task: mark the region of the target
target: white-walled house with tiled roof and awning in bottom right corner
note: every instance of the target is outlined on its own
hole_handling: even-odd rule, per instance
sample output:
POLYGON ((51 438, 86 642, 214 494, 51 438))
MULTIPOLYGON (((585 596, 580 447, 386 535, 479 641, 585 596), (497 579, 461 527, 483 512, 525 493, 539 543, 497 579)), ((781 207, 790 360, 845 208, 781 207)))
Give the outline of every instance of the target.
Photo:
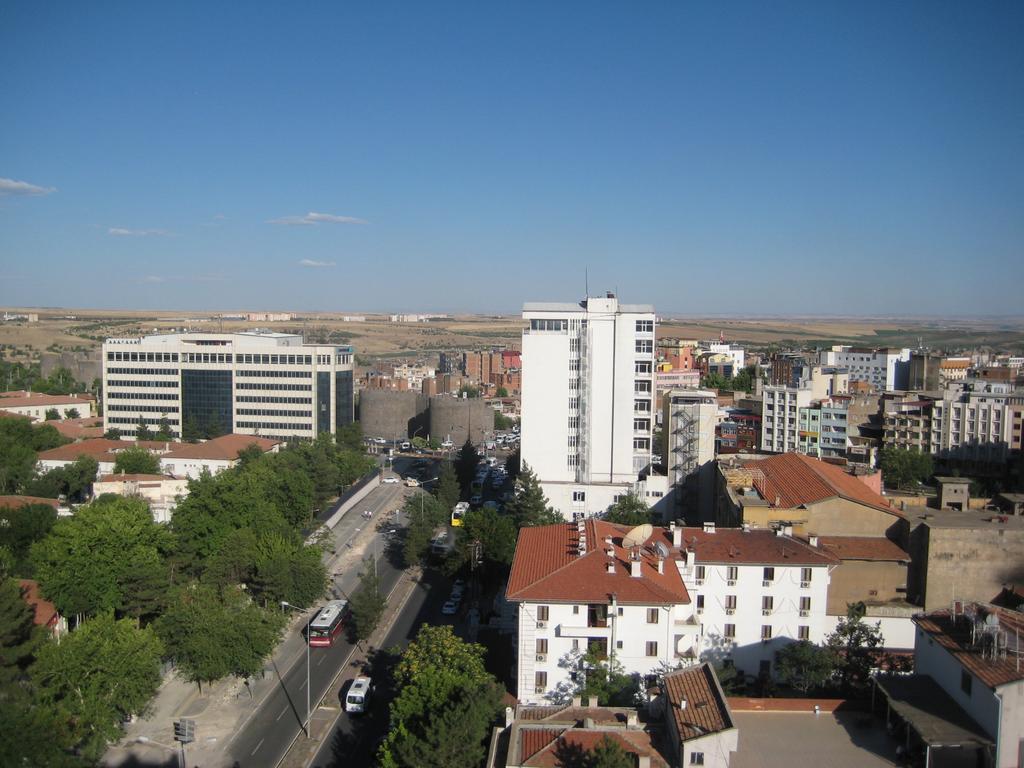
POLYGON ((926 765, 1024 765, 1024 613, 956 601, 914 617, 910 676, 877 679, 895 735, 926 765))

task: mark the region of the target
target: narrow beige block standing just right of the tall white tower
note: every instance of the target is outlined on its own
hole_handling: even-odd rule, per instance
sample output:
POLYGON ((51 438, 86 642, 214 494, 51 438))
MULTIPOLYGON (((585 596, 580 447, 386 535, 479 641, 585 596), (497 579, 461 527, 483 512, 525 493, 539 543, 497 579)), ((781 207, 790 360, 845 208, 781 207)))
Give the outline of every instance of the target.
POLYGON ((718 398, 700 389, 673 389, 662 399, 672 486, 673 519, 710 519, 715 499, 718 398))

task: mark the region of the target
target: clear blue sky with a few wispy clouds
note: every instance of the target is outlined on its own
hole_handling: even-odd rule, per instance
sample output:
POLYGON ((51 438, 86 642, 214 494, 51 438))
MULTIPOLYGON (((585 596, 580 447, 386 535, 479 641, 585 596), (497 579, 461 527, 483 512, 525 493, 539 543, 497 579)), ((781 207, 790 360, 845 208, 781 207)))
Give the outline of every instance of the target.
POLYGON ((0 4, 0 304, 1021 313, 1024 3, 0 4))

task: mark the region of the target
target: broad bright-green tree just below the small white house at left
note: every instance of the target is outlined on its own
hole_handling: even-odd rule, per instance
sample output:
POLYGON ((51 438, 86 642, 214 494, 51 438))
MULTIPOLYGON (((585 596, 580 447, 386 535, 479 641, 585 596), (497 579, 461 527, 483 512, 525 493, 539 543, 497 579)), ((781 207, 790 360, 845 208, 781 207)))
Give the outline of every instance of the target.
POLYGON ((171 543, 144 502, 110 496, 57 520, 31 553, 43 594, 65 615, 124 613, 131 607, 127 593, 138 583, 132 569, 162 571, 171 543))

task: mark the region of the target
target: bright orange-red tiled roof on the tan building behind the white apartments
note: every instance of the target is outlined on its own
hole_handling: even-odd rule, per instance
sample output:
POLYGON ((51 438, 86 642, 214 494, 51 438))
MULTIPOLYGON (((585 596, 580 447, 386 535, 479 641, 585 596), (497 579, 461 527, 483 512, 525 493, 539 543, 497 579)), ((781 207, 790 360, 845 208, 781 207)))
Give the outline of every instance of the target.
POLYGON ((856 477, 803 454, 780 454, 743 466, 760 470, 755 473, 754 486, 762 499, 776 507, 803 507, 838 497, 902 517, 885 497, 856 477))

